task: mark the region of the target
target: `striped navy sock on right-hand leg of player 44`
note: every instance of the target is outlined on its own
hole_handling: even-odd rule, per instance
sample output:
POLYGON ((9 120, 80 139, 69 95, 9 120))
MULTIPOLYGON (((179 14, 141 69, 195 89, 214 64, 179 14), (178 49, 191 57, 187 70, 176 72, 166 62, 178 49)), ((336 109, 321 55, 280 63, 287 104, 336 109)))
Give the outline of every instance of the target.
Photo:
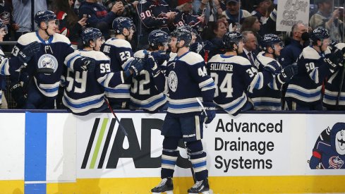
POLYGON ((195 178, 202 181, 208 177, 206 167, 206 152, 202 150, 201 140, 186 143, 190 155, 190 161, 193 165, 195 178))

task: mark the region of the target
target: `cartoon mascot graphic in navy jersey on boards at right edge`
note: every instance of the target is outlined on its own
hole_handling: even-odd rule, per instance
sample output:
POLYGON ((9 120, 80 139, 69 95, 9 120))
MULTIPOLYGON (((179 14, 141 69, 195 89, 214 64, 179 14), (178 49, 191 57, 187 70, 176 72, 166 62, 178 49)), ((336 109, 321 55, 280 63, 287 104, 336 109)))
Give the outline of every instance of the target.
POLYGON ((322 131, 308 163, 310 169, 345 169, 344 161, 345 123, 335 123, 322 131))

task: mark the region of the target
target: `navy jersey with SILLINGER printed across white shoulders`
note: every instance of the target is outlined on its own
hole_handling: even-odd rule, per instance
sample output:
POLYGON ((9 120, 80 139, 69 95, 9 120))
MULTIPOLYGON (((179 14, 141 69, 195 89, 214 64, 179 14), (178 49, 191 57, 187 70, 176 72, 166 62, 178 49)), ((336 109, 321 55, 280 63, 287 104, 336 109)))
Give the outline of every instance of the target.
POLYGON ((265 83, 264 74, 253 68, 243 56, 217 54, 207 63, 214 79, 214 102, 229 114, 236 114, 248 101, 247 91, 260 89, 265 83))

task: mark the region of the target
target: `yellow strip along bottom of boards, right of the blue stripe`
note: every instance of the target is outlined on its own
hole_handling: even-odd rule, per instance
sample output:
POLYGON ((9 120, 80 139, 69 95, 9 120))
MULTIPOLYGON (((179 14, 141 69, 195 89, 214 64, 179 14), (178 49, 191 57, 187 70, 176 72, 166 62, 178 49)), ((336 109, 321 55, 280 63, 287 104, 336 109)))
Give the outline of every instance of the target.
MULTIPOLYGON (((47 193, 145 194, 160 178, 92 178, 76 183, 48 183, 47 193)), ((210 177, 214 194, 345 193, 345 176, 234 176, 210 177)), ((174 178, 174 194, 186 194, 191 177, 174 178)))

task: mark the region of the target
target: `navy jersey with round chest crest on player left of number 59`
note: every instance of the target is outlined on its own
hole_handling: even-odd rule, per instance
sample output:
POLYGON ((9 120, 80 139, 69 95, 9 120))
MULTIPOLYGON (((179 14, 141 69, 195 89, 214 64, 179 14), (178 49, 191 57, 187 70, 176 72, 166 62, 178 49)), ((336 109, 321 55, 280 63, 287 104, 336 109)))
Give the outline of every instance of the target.
MULTIPOLYGON (((18 44, 13 47, 13 56, 17 56, 20 49, 23 49, 23 47, 35 41, 41 44, 40 52, 32 56, 31 60, 28 62, 26 71, 35 83, 37 90, 40 91, 42 95, 56 98, 64 69, 63 63, 69 68, 74 69, 77 66, 75 62, 79 61, 77 59, 80 59, 81 56, 79 52, 71 47, 71 42, 67 37, 55 33, 49 37, 49 40, 44 41, 39 37, 38 32, 30 32, 20 36, 18 44), (54 72, 50 75, 38 73, 41 68, 51 68, 54 72)), ((9 64, 10 68, 8 73, 13 75, 18 73, 16 70, 19 69, 23 63, 19 61, 18 57, 11 57, 9 64)), ((81 64, 78 64, 78 66, 80 65, 81 64)))

